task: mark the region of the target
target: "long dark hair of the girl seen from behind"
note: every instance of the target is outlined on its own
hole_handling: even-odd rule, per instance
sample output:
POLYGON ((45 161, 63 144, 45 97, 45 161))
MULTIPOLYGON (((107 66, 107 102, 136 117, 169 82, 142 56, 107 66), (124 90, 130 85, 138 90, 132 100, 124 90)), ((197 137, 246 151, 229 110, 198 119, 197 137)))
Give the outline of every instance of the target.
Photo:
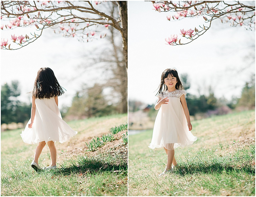
POLYGON ((35 98, 52 98, 60 96, 64 90, 59 85, 53 70, 50 68, 40 68, 34 83, 34 90, 31 91, 35 98))

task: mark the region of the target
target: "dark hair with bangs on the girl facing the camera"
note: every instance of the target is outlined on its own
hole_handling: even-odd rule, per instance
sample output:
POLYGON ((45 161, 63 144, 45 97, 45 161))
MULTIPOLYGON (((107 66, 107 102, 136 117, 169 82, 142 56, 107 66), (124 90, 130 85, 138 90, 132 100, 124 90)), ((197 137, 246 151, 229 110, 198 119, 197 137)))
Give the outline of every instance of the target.
POLYGON ((167 86, 164 84, 164 79, 167 78, 169 75, 171 75, 172 77, 176 77, 176 79, 178 81, 175 85, 175 88, 177 90, 184 90, 184 88, 181 84, 181 80, 180 80, 180 77, 178 75, 178 72, 175 69, 169 69, 168 68, 168 69, 164 70, 164 72, 162 73, 161 82, 160 82, 160 85, 159 85, 159 90, 158 90, 156 95, 159 95, 163 90, 167 90, 167 86))

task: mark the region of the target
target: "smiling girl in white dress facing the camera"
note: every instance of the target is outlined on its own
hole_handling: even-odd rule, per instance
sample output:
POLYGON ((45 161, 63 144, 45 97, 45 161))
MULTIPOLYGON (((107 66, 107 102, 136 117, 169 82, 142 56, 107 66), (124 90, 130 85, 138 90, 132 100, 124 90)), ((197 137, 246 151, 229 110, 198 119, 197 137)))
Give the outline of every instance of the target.
POLYGON ((178 146, 192 145, 197 137, 190 132, 189 111, 185 100, 185 91, 182 90, 181 80, 175 69, 166 69, 161 76, 161 83, 157 93, 158 101, 155 109, 158 110, 152 141, 149 148, 164 148, 167 154, 167 165, 160 174, 172 171, 177 165, 174 149, 178 146))

